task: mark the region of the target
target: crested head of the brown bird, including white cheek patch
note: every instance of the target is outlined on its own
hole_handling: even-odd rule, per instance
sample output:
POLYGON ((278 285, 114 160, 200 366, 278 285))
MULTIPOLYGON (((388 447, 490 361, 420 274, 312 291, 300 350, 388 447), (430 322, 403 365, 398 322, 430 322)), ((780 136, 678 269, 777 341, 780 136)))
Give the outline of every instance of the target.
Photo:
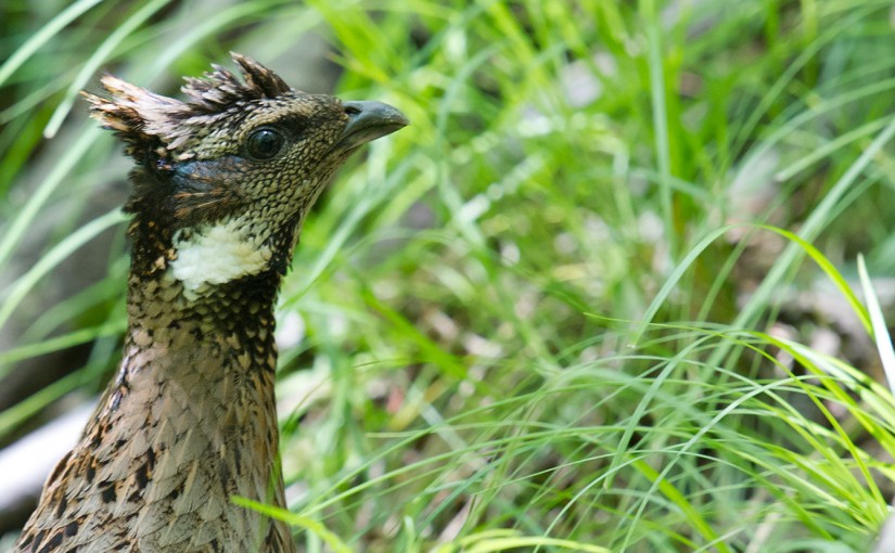
POLYGON ((111 98, 82 93, 137 167, 126 210, 135 267, 168 272, 188 296, 266 271, 282 274, 323 185, 366 142, 408 124, 379 102, 307 94, 233 53, 242 79, 214 65, 186 101, 106 75, 111 98))

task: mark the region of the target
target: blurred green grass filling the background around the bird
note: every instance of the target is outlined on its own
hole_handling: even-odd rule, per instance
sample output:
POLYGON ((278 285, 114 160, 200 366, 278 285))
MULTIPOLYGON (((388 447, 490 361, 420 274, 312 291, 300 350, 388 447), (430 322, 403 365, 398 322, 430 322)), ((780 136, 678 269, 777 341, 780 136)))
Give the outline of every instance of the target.
POLYGON ((4 10, 0 324, 22 330, 0 377, 92 349, 0 413, 0 440, 118 360, 120 240, 105 280, 28 319, 66 259, 123 232, 88 209, 127 164, 77 90, 112 70, 174 92, 228 50, 284 69, 312 33, 340 95, 412 126, 341 172, 282 295, 293 500, 274 514, 307 551, 872 542, 895 490, 892 306, 871 279, 895 269, 890 3, 4 10))

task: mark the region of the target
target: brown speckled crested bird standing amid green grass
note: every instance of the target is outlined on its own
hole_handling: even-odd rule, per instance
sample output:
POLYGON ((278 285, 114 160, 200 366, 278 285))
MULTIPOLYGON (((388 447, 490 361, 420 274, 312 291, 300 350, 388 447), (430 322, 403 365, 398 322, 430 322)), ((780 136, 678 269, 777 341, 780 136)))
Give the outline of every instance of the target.
POLYGON ((397 108, 291 88, 231 52, 184 100, 112 75, 81 92, 133 158, 123 358, 13 552, 297 551, 274 404, 274 304, 303 222, 397 108))

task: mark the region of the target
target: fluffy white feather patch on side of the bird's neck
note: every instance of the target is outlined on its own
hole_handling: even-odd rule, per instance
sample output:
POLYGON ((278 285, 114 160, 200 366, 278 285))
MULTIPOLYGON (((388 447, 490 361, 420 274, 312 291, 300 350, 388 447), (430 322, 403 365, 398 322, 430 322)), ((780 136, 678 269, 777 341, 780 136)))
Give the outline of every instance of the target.
POLYGON ((183 283, 183 295, 194 300, 214 284, 257 274, 267 268, 272 256, 264 244, 263 233, 252 232, 251 224, 241 218, 221 224, 203 224, 174 234, 177 259, 168 272, 183 283))

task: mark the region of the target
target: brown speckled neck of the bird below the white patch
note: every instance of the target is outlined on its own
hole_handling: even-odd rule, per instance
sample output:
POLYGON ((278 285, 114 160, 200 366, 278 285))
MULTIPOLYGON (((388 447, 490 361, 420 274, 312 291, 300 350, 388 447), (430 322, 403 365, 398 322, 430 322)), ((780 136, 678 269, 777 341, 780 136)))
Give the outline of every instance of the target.
POLYGON ((191 301, 144 261, 135 253, 118 374, 38 513, 53 509, 48 525, 76 523, 72 543, 98 551, 116 550, 122 531, 140 551, 294 552, 285 524, 231 501, 285 506, 273 397, 279 274, 191 301))

